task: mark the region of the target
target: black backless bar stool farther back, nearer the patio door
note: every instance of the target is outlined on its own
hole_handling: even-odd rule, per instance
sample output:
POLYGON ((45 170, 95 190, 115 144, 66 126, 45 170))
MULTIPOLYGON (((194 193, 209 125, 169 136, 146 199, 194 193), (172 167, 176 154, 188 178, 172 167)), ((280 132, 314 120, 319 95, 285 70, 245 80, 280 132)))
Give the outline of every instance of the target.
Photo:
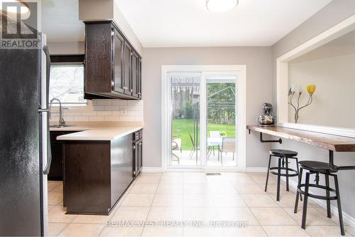
POLYGON ((288 177, 295 177, 298 176, 298 165, 296 165, 297 170, 291 169, 288 167, 288 159, 295 159, 296 164, 298 164, 298 159, 297 159, 297 152, 293 152, 287 149, 271 149, 270 150, 270 157, 268 159, 268 174, 266 176, 266 184, 265 184, 265 191, 268 189, 268 175, 269 172, 271 174, 275 174, 278 176, 278 191, 276 194, 276 200, 280 201, 280 178, 281 177, 286 177, 286 190, 289 191, 290 187, 288 184, 288 177), (270 167, 271 165, 271 158, 272 157, 278 157, 278 167, 270 167), (277 172, 273 172, 274 169, 277 169, 277 172), (283 173, 285 171, 285 173, 283 173))

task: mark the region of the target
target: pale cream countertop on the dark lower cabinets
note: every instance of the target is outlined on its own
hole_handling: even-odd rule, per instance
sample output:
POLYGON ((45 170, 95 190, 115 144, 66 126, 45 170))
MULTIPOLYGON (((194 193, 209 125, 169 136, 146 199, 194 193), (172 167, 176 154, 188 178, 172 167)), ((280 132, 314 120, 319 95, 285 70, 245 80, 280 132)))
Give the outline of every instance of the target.
POLYGON ((50 127, 50 131, 80 131, 58 136, 58 140, 111 141, 124 137, 143 128, 143 123, 79 123, 69 127, 50 127))

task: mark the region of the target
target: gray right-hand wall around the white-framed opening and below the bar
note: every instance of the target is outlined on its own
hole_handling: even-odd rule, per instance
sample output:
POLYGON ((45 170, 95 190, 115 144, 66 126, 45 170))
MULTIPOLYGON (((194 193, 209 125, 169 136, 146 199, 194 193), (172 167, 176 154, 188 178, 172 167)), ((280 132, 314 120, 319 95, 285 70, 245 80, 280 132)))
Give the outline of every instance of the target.
MULTIPOLYGON (((355 14, 354 0, 334 0, 330 4, 320 10, 317 14, 302 23, 300 26, 291 31, 283 39, 275 43, 272 47, 273 54, 273 103, 276 101, 276 58, 284 53, 300 46, 305 41, 326 31, 332 26, 344 21, 355 14)), ((307 144, 291 142, 283 140, 281 146, 284 149, 293 149, 299 152, 299 159, 312 159, 322 162, 328 161, 327 150, 313 147, 307 144)), ((354 153, 335 153, 334 161, 337 165, 355 165, 354 153)), ((338 174, 339 186, 341 189, 343 211, 350 216, 355 217, 354 194, 355 194, 355 171, 342 171, 338 174)))

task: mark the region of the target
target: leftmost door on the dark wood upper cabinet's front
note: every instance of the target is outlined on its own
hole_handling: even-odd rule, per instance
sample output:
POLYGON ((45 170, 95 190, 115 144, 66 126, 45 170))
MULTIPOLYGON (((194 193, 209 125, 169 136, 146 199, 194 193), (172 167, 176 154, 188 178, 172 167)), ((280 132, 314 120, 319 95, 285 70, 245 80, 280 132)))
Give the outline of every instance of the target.
POLYGON ((124 38, 121 36, 119 31, 112 29, 113 38, 113 64, 114 71, 114 86, 112 90, 118 93, 124 93, 124 70, 123 70, 123 55, 124 55, 124 38))

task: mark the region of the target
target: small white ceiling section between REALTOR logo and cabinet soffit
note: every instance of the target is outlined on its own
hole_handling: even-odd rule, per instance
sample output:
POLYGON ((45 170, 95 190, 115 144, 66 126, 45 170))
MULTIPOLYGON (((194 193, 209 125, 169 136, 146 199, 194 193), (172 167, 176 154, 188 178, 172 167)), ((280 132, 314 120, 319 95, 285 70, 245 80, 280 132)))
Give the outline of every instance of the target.
POLYGON ((42 31, 48 41, 84 41, 85 26, 79 21, 78 0, 42 0, 42 31))

